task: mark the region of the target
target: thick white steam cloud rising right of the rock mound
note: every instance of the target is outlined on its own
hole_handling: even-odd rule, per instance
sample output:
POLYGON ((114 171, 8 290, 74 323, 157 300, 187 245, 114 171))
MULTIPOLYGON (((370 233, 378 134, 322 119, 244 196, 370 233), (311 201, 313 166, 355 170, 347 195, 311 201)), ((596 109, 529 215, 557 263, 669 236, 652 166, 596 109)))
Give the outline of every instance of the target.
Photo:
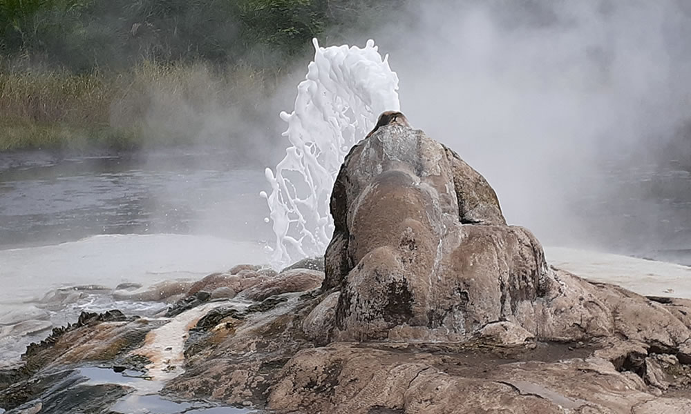
POLYGON ((663 205, 691 201, 688 3, 431 1, 392 13, 360 36, 390 54, 401 110, 489 180, 511 224, 544 244, 691 246, 691 204, 663 205))

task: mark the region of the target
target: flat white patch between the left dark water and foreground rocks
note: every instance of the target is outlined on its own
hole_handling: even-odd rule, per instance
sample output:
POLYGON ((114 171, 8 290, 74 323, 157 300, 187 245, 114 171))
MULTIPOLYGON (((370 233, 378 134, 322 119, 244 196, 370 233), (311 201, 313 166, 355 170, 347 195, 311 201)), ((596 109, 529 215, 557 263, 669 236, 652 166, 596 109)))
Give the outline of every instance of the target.
POLYGON ((0 308, 62 286, 144 285, 200 279, 266 261, 261 246, 209 236, 99 235, 53 246, 0 250, 0 308))

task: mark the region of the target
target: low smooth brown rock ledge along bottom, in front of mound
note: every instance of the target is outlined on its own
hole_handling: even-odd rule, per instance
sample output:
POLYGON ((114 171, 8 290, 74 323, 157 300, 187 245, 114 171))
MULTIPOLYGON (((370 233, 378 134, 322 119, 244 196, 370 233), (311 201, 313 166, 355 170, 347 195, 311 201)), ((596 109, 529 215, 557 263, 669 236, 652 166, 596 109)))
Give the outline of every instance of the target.
MULTIPOLYGON (((283 367, 268 404, 278 413, 630 413, 654 399, 640 377, 599 358, 507 363, 484 355, 473 370, 466 357, 357 344, 307 349, 283 367)), ((683 413, 685 402, 670 402, 670 412, 683 413)))

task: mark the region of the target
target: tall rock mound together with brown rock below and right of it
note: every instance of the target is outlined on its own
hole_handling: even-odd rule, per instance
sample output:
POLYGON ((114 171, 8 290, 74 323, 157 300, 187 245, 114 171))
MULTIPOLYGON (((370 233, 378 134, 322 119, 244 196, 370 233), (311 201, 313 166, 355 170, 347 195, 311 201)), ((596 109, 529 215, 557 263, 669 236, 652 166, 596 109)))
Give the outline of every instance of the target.
POLYGON ((691 400, 651 395, 679 378, 670 371, 691 372, 682 363, 691 344, 688 302, 650 300, 549 268, 536 237, 507 226, 482 175, 421 130, 380 126, 354 146, 331 211, 336 229, 325 256, 325 297, 303 324, 314 342, 330 345, 291 359, 269 397, 272 408, 683 413, 691 407, 691 400), (456 351, 401 353, 430 343, 456 351), (558 351, 563 343, 591 348, 576 357, 573 346, 558 351), (522 355, 536 360, 514 364, 486 348, 508 346, 515 357, 536 344, 551 344, 549 355, 522 355), (484 362, 467 364, 468 353, 484 362), (321 389, 334 393, 314 391, 321 389))

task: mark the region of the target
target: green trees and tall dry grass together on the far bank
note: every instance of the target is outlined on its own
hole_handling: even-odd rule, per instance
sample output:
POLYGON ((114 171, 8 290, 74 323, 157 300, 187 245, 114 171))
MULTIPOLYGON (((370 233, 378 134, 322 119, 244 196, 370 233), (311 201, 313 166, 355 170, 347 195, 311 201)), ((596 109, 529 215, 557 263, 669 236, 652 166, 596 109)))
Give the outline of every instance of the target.
POLYGON ((396 2, 0 0, 0 151, 189 142, 396 2))

